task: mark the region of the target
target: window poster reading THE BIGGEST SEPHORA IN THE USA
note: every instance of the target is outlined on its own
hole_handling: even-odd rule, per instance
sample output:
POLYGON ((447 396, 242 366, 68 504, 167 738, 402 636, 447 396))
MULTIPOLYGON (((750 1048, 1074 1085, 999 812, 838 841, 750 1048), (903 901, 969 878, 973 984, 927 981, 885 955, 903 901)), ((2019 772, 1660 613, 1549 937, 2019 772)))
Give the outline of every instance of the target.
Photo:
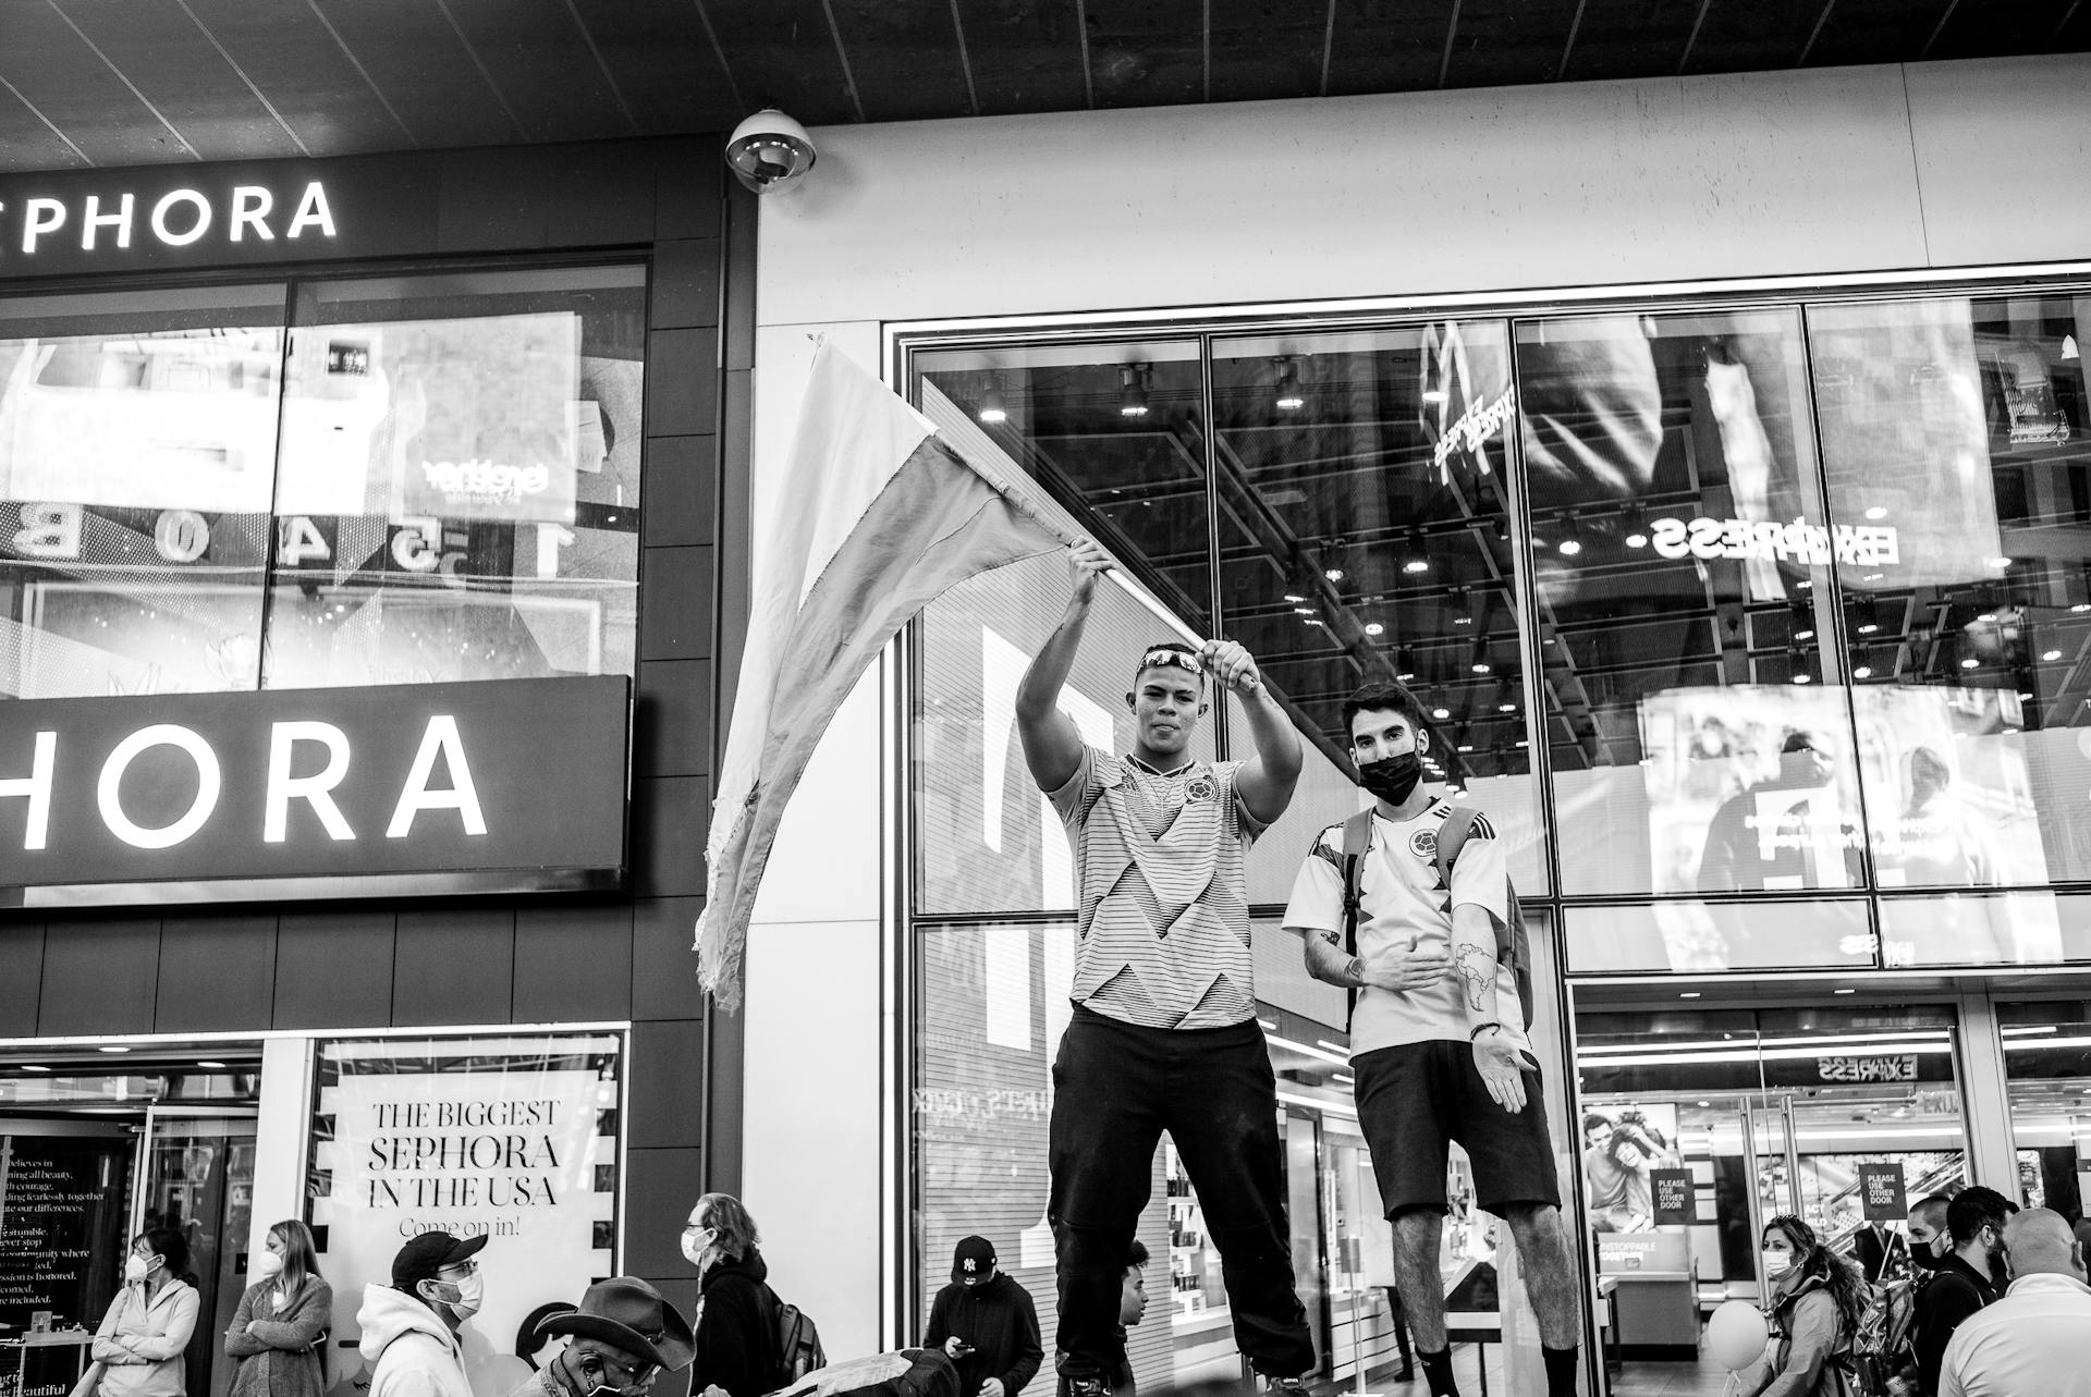
MULTIPOLYGON (((477 1397, 529 1376, 516 1332, 617 1272, 619 1039, 519 1035, 320 1046, 307 1207, 335 1338, 420 1232, 485 1236, 485 1301, 460 1330, 477 1397)), ((355 1382, 353 1347, 330 1384, 355 1382)))

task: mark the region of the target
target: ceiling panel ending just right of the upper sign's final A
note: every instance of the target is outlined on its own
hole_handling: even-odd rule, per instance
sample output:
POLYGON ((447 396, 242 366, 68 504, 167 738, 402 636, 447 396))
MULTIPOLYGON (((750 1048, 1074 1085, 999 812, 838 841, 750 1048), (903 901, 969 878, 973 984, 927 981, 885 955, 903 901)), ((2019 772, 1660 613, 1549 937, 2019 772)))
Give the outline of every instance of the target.
POLYGON ((312 155, 351 155, 408 140, 408 130, 385 111, 305 4, 182 2, 312 155))

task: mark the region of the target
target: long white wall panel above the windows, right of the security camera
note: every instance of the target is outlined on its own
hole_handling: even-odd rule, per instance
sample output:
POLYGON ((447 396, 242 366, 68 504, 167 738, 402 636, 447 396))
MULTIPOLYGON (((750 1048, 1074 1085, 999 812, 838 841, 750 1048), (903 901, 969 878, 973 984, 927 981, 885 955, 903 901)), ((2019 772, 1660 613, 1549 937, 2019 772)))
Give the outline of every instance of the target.
POLYGON ((1897 67, 824 128, 759 314, 991 316, 1905 268, 1897 67))

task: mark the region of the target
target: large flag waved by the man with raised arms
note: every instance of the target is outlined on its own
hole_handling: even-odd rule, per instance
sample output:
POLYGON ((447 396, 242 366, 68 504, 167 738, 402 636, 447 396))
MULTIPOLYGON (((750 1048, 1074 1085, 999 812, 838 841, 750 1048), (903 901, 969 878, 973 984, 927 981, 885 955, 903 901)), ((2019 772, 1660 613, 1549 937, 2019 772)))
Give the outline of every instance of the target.
POLYGON ((780 504, 757 525, 749 644, 711 807, 696 966, 730 1010, 769 845, 843 698, 945 590, 1069 544, 935 433, 832 345, 813 356, 780 504))

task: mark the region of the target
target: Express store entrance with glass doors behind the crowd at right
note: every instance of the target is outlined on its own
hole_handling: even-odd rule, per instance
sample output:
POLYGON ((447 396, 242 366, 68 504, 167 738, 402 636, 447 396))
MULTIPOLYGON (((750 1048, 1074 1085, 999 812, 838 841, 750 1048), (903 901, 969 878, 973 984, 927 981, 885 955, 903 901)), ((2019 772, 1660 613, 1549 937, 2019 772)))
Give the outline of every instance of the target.
POLYGON ((1577 1115, 1583 1226, 1621 1359, 1610 1391, 1721 1393, 1704 1322, 1769 1295, 1773 1217, 1892 1276, 1909 1205, 1966 1175, 1953 1016, 1600 1004, 1579 991, 1577 1115))

